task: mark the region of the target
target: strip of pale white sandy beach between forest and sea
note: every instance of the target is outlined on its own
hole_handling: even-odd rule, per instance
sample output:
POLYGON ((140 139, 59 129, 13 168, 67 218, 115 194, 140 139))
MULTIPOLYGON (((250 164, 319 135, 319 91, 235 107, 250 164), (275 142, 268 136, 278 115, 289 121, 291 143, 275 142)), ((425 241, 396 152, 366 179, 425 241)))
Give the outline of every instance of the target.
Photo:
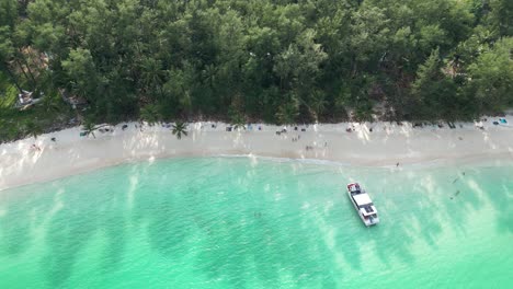
MULTIPOLYGON (((508 117, 506 117, 508 118, 508 117)), ((181 140, 170 128, 136 123, 114 132, 80 137, 80 127, 42 135, 0 146, 0 189, 50 181, 99 167, 132 161, 185 155, 248 154, 293 159, 318 159, 347 165, 399 167, 414 163, 465 160, 513 160, 513 126, 483 122, 412 128, 389 123, 287 126, 255 125, 241 131, 226 131, 226 124, 189 124, 189 136, 181 140), (261 126, 262 130, 259 130, 261 126), (354 131, 345 129, 353 127, 354 131), (306 131, 300 131, 305 128, 306 131), (372 129, 372 131, 371 131, 372 129), (52 141, 52 138, 56 141, 52 141), (293 141, 293 138, 298 138, 293 141), (37 144, 41 150, 31 148, 37 144), (307 150, 307 146, 311 147, 307 150)), ((511 124, 513 119, 509 118, 511 124)))

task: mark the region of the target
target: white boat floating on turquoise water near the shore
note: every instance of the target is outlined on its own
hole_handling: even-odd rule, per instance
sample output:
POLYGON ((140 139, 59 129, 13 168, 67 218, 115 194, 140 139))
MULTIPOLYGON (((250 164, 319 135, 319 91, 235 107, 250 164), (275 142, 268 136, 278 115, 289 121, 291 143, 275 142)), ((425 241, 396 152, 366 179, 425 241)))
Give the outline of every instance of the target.
POLYGON ((369 227, 379 222, 373 200, 358 183, 347 184, 347 195, 365 226, 369 227))

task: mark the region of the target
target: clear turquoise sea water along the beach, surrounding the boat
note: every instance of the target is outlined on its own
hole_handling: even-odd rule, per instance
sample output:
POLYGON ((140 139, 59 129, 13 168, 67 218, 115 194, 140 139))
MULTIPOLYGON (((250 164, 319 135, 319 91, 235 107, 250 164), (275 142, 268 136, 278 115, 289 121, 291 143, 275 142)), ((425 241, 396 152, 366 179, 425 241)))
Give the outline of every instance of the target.
POLYGON ((205 158, 2 190, 0 288, 513 288, 512 176, 205 158))

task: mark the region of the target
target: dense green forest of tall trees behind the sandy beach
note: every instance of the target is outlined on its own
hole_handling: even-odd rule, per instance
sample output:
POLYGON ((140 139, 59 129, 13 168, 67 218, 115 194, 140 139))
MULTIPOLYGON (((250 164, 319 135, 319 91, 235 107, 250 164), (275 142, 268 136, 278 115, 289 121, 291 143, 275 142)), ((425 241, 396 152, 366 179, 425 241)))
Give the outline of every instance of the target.
POLYGON ((513 1, 1 0, 0 71, 94 122, 470 119, 513 106, 513 1))

